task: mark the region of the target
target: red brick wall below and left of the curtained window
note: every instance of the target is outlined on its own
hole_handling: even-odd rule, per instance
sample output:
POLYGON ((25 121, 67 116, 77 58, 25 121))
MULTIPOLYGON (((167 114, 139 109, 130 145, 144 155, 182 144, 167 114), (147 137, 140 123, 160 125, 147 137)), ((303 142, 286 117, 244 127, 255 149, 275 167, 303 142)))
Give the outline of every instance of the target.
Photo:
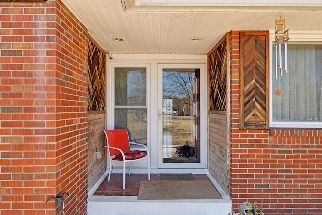
POLYGON ((265 214, 322 214, 322 130, 239 129, 239 31, 230 32, 230 196, 265 214))

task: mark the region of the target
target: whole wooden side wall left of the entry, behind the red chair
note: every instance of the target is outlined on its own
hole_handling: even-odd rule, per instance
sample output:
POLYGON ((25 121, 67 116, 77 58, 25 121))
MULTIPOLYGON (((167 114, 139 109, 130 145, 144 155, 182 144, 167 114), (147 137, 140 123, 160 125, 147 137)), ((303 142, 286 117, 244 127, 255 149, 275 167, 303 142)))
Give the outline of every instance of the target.
POLYGON ((93 38, 88 39, 88 189, 106 169, 106 53, 93 38), (101 153, 97 159, 96 152, 101 153))

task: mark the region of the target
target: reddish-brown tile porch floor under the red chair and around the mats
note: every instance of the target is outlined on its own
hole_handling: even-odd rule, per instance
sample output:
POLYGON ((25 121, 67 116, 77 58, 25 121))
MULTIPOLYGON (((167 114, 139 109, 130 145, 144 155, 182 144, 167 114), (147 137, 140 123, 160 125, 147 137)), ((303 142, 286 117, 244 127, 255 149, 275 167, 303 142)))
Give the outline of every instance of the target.
MULTIPOLYGON (((195 180, 209 180, 207 175, 193 174, 195 180)), ((108 175, 93 195, 101 196, 138 196, 140 182, 147 181, 147 174, 126 174, 126 189, 123 190, 123 174, 112 173, 110 181, 108 175)), ((151 180, 160 180, 160 174, 151 174, 151 180)))

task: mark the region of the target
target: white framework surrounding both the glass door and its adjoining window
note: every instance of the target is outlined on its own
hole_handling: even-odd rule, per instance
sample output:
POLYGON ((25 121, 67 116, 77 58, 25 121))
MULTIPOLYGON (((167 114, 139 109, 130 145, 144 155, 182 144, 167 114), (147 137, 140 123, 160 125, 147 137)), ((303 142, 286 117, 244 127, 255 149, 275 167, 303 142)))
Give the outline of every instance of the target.
MULTIPOLYGON (((205 160, 204 167, 198 169, 174 169, 174 168, 158 168, 158 102, 157 102, 157 88, 158 88, 158 77, 157 77, 157 66, 158 64, 180 64, 180 65, 198 65, 201 73, 202 89, 200 93, 205 97, 201 98, 200 108, 204 108, 204 114, 201 115, 202 124, 201 129, 204 130, 204 136, 207 137, 207 54, 113 54, 113 60, 106 61, 106 129, 114 128, 114 71, 113 67, 140 67, 146 66, 147 69, 147 100, 148 100, 148 148, 151 155, 151 173, 195 173, 195 174, 206 174, 208 172, 208 162, 205 160)), ((161 104, 162 105, 162 104, 161 104)), ((206 140, 205 140, 206 141, 206 140)), ((205 149, 207 150, 207 149, 205 149)), ((205 153, 207 156, 207 153, 205 153)), ((206 157, 204 159, 207 159, 206 157)), ((133 166, 132 173, 145 173, 145 169, 141 168, 146 166, 144 160, 142 163, 136 162, 136 166, 133 166)), ((122 165, 118 163, 113 164, 113 171, 116 173, 122 173, 122 165)))

